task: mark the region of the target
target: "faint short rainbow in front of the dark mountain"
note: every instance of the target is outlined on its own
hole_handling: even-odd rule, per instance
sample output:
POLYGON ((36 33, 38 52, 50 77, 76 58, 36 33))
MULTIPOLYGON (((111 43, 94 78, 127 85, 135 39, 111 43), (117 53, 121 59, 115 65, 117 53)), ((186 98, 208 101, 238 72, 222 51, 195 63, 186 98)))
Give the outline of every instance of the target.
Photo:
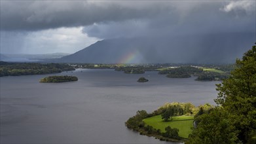
POLYGON ((133 52, 130 52, 126 54, 119 63, 138 63, 141 61, 141 54, 139 54, 138 50, 134 50, 133 52))

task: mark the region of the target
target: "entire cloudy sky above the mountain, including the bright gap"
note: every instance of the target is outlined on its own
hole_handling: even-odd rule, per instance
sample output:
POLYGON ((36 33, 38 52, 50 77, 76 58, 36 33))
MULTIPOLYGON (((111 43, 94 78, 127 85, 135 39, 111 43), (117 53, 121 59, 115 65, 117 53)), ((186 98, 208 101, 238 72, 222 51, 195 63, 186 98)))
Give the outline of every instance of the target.
POLYGON ((74 53, 119 37, 153 37, 158 43, 164 37, 256 31, 254 0, 0 3, 2 54, 74 53))

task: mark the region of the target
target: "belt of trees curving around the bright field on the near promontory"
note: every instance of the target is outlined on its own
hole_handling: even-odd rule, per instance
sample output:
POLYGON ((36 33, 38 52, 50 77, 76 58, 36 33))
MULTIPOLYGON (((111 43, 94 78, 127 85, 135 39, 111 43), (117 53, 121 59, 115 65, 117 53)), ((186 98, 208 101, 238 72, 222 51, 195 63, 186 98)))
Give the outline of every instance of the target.
MULTIPOLYGON (((167 126, 165 128, 165 132, 161 132, 159 129, 153 128, 153 126, 149 126, 143 122, 143 119, 154 117, 156 115, 162 115, 162 119, 167 121, 169 118, 173 116, 180 115, 198 115, 197 113, 201 113, 200 109, 203 111, 209 111, 213 106, 206 103, 205 105, 200 105, 199 107, 195 107, 191 103, 165 103, 160 108, 158 108, 153 113, 148 114, 147 111, 141 110, 137 111, 134 117, 129 118, 125 125, 127 128, 135 130, 142 135, 148 135, 156 137, 163 141, 185 141, 185 138, 179 137, 177 128, 171 128, 167 126)), ((171 118, 172 120, 172 118, 171 118)))

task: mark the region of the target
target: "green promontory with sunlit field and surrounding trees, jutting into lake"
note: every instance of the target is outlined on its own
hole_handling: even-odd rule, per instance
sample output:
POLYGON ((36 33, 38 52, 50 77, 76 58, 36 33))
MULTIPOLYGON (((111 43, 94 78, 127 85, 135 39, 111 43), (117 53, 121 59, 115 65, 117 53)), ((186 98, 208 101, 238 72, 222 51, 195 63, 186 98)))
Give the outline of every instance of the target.
POLYGON ((146 111, 137 111, 137 114, 129 118, 125 124, 127 128, 136 130, 140 134, 153 135, 165 141, 183 141, 183 137, 188 137, 191 133, 194 120, 194 117, 184 114, 191 115, 192 109, 195 107, 191 103, 166 103, 150 114, 147 114, 146 111), (161 114, 166 111, 172 111, 172 121, 162 120, 161 114), (168 126, 172 126, 172 129, 168 129, 166 132, 165 128, 168 126))

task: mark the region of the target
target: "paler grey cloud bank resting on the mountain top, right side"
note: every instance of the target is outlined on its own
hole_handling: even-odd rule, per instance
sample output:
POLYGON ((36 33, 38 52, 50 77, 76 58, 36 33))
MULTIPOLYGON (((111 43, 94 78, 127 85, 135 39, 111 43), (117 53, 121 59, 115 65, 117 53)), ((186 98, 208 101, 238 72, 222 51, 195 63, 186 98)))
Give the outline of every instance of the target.
POLYGON ((227 9, 227 5, 217 2, 202 3, 187 11, 178 7, 152 18, 94 24, 84 27, 83 31, 101 39, 136 36, 162 39, 163 36, 174 35, 255 32, 255 7, 249 5, 247 10, 247 7, 238 6, 227 9), (243 14, 241 10, 244 11, 243 14))

